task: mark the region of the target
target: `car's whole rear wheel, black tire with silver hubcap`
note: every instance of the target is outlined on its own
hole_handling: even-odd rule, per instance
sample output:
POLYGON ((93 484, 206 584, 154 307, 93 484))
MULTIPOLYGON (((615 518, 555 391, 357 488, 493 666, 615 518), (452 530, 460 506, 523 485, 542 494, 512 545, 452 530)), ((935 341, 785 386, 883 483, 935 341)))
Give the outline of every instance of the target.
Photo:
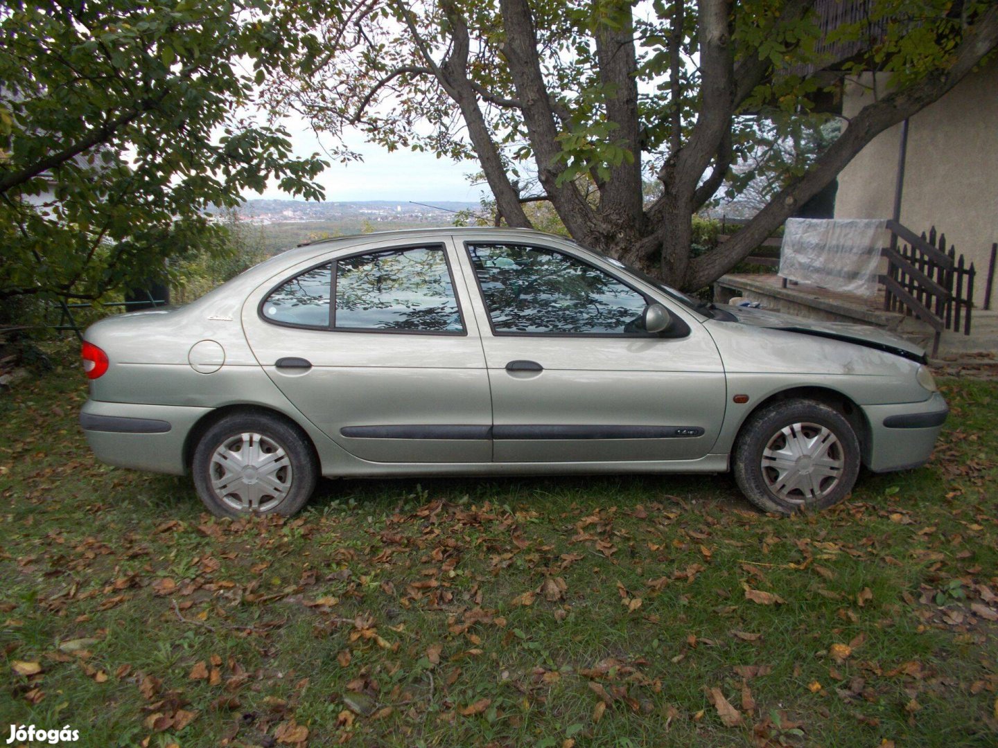
POLYGON ((195 448, 191 470, 208 510, 216 517, 233 518, 289 517, 308 501, 318 477, 307 437, 263 412, 234 413, 209 428, 195 448), (283 454, 270 457, 278 451, 283 454), (260 467, 247 470, 253 464, 260 467))

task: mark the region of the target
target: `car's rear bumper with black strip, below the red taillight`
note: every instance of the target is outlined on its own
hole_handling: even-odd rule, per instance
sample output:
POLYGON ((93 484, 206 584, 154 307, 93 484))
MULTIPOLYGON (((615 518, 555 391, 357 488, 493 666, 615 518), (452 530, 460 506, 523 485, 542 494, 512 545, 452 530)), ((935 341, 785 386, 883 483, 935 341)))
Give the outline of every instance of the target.
POLYGON ((184 475, 188 434, 211 410, 88 400, 80 411, 80 426, 94 456, 103 463, 184 475))

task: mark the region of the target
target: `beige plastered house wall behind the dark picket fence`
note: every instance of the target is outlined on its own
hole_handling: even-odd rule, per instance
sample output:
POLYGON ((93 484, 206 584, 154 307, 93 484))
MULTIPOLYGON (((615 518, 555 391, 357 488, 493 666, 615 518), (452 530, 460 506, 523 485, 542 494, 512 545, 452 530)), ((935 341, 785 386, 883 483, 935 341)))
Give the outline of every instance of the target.
MULTIPOLYGON (((848 82, 842 114, 855 115, 887 93, 886 84, 886 76, 874 80, 871 73, 848 82)), ((881 133, 839 175, 836 218, 891 217, 900 134, 900 125, 881 133)), ((975 288, 984 293, 991 244, 998 241, 998 59, 911 118, 901 222, 945 233, 973 260, 975 288)), ((998 291, 993 296, 992 307, 998 291)))

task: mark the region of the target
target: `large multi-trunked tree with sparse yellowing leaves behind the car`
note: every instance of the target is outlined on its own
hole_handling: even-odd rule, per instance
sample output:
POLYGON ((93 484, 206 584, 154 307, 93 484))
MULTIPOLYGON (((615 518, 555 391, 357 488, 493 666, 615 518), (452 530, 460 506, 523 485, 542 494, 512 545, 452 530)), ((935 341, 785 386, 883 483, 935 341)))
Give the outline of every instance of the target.
POLYGON ((389 150, 476 160, 507 223, 530 225, 524 203, 549 200, 577 240, 688 289, 998 43, 987 0, 288 0, 280 16, 294 49, 268 83, 274 109, 334 137, 358 126, 389 150), (819 152, 772 149, 786 161, 778 189, 731 241, 693 256, 691 216, 726 181, 772 167, 749 162, 759 139, 818 132, 843 77, 868 70, 889 74, 891 93, 819 152))

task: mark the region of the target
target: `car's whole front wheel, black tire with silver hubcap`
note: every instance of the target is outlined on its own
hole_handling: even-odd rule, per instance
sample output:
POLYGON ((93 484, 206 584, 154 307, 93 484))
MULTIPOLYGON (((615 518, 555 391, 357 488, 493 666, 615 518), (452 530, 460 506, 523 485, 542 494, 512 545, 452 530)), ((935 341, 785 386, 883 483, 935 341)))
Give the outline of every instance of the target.
POLYGON ((749 416, 733 459, 735 480, 749 502, 763 512, 790 515, 827 509, 846 497, 859 475, 859 440, 834 408, 784 400, 749 416))

